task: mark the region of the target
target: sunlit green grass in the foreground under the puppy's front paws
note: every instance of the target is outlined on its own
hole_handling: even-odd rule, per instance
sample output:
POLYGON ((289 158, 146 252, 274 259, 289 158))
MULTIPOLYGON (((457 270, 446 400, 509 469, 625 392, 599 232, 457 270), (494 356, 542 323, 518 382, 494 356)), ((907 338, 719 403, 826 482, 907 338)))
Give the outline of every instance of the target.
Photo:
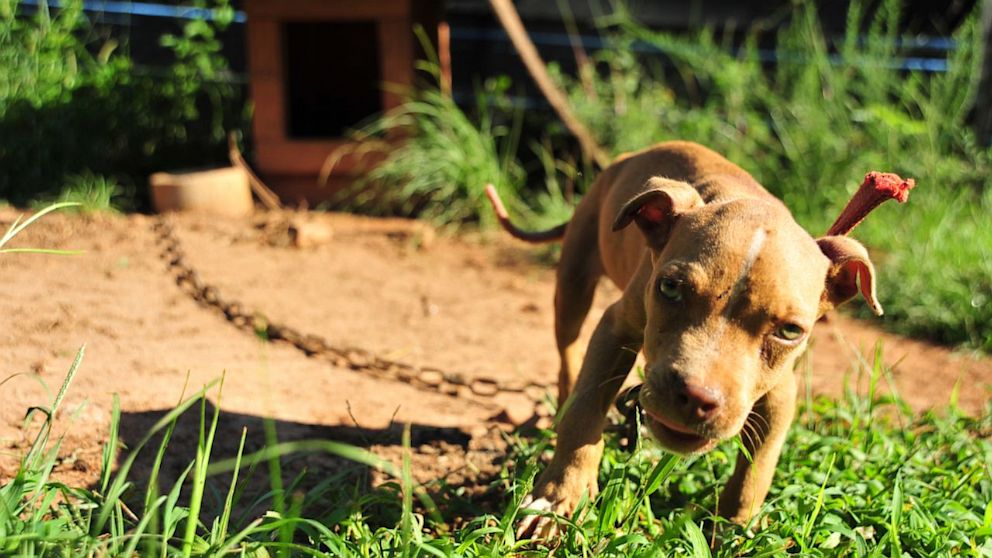
MULTIPOLYGON (((270 440, 245 455, 244 435, 235 457, 216 461, 211 448, 219 411, 206 412, 204 397, 214 389, 207 386, 130 448, 117 445, 115 399, 100 480, 90 488, 66 486, 52 478, 62 440, 50 440, 50 425, 81 359, 82 350, 54 403, 38 409, 46 420, 36 442, 16 476, 0 487, 0 555, 547 553, 515 540, 513 530, 517 505, 548 457, 552 435, 545 431, 509 438, 506 463, 480 501, 442 481, 414 483, 409 432, 407 457, 398 466, 327 440, 270 440), (172 449, 176 420, 197 409, 195 458, 173 486, 159 492, 154 477, 172 449), (155 439, 157 445, 151 443, 155 439), (130 478, 141 452, 154 455, 150 481, 130 478), (322 482, 308 489, 298 477, 285 486, 281 480, 273 483, 262 494, 244 490, 244 478, 256 465, 268 463, 271 469, 288 455, 308 452, 345 457, 356 470, 310 471, 306 474, 322 482), (368 488, 356 480, 359 466, 393 480, 368 488), (229 488, 218 488, 218 480, 229 488), (247 503, 269 511, 232 513, 247 503), (456 516, 467 522, 456 525, 456 516)), ((873 393, 886 374, 878 362, 863 371, 873 393)), ((992 556, 992 408, 969 418, 952 402, 941 413, 917 416, 895 397, 848 394, 841 401, 807 400, 799 417, 768 501, 746 528, 724 524, 711 513, 735 460, 735 443, 683 460, 650 443, 624 453, 608 438, 601 494, 568 521, 556 555, 710 556, 716 526, 721 533, 721 544, 712 551, 716 556, 992 556)))

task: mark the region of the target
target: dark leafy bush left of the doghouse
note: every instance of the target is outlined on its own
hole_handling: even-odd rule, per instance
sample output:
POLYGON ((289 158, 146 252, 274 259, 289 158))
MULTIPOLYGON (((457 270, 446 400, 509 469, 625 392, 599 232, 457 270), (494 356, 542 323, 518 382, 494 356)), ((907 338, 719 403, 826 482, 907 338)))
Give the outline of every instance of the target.
MULTIPOLYGON (((205 2, 200 2, 201 7, 205 2)), ((174 62, 136 66, 114 39, 99 42, 81 0, 44 4, 32 16, 0 1, 0 199, 56 196, 85 172, 121 184, 141 202, 148 174, 226 161, 225 131, 243 122, 216 32, 233 17, 227 0, 212 22, 191 20, 161 43, 174 62)))

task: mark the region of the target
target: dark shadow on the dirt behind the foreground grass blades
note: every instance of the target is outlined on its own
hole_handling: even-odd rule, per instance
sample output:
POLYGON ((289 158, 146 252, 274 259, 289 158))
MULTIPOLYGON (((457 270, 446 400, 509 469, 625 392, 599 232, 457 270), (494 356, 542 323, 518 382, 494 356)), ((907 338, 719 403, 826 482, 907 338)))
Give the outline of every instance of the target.
MULTIPOLYGON (((210 402, 205 404, 203 416, 207 428, 215 410, 216 407, 210 402)), ((119 433, 122 449, 117 460, 118 467, 168 413, 169 410, 122 413, 119 433)), ((200 405, 197 404, 176 421, 159 468, 159 493, 164 494, 171 490, 183 471, 196 459, 201 430, 200 417, 200 405)), ((261 450, 267 445, 267 428, 274 430, 279 442, 333 440, 370 449, 396 465, 400 464, 404 453, 404 425, 401 424, 372 429, 307 424, 221 412, 210 461, 216 463, 236 456, 242 431, 246 434, 244 454, 261 450)), ((409 455, 415 480, 424 484, 442 514, 455 519, 469 504, 476 511, 480 505, 500 505, 505 491, 494 487, 493 482, 502 466, 506 446, 501 443, 502 438, 498 432, 495 436, 473 439, 458 428, 412 424, 410 431, 409 455)), ((135 512, 142 509, 148 479, 151 477, 163 435, 163 432, 157 433, 140 450, 128 474, 134 488, 126 494, 125 501, 135 512)), ((245 524, 262 513, 275 509, 273 487, 278 486, 278 483, 282 484, 288 495, 287 501, 302 498, 304 510, 318 516, 338 514, 352 508, 357 511, 361 507, 365 513, 376 510, 371 515, 384 524, 398 518, 400 496, 397 485, 393 484, 396 479, 385 473, 329 453, 288 455, 279 461, 278 467, 278 475, 273 474, 268 464, 242 468, 233 506, 235 525, 245 524)), ((220 515, 224 509, 231 478, 231 473, 208 477, 201 515, 201 520, 206 524, 209 525, 212 518, 220 515)), ((180 495, 181 504, 188 502, 189 491, 190 479, 187 478, 180 495)))

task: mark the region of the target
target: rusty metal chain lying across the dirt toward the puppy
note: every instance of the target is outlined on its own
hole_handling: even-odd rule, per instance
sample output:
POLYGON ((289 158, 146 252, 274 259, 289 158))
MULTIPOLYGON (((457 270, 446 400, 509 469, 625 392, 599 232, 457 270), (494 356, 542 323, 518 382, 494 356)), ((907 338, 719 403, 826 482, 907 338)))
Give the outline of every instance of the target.
POLYGON ((332 345, 318 335, 305 334, 292 327, 269 320, 265 314, 250 310, 238 301, 221 297, 216 287, 203 281, 187 262, 172 225, 162 216, 152 223, 152 232, 162 249, 161 258, 168 265, 179 288, 201 306, 219 312, 232 325, 269 341, 288 343, 310 358, 320 358, 335 366, 349 368, 370 376, 402 382, 423 391, 458 397, 471 394, 492 398, 500 393, 523 395, 534 403, 535 414, 545 400, 550 384, 533 381, 505 382, 488 376, 470 378, 459 372, 418 367, 382 358, 358 348, 332 345))

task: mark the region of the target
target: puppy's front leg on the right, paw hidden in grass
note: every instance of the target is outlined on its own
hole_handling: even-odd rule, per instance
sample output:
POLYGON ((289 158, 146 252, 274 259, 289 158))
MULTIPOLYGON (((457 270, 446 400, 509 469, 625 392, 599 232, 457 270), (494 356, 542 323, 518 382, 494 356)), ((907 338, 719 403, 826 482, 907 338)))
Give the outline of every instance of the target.
POLYGON ((737 466, 720 494, 720 515, 745 524, 768 495, 775 465, 796 414, 796 377, 789 373, 754 405, 741 439, 751 454, 737 456, 737 466))

